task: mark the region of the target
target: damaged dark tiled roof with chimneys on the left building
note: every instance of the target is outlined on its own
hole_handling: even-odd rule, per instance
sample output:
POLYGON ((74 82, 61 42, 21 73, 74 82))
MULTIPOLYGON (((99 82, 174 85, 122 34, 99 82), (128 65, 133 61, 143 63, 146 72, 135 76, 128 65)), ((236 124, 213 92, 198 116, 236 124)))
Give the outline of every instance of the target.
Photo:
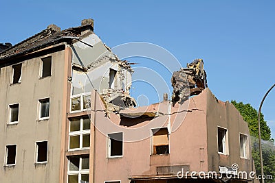
MULTIPOLYGON (((72 27, 61 31, 60 27, 56 25, 49 25, 47 29, 27 38, 18 44, 5 49, 0 53, 0 62, 4 60, 10 60, 16 56, 21 56, 50 45, 56 45, 60 42, 70 42, 72 38, 66 38, 65 36, 81 37, 81 32, 91 29, 94 31, 92 24, 81 25, 79 27, 72 27)), ((83 35, 85 36, 85 35, 83 35)))

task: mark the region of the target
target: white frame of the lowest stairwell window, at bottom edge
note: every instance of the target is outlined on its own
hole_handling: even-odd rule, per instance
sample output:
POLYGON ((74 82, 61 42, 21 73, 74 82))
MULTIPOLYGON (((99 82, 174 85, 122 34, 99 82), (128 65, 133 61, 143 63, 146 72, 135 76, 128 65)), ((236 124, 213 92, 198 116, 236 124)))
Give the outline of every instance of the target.
MULTIPOLYGON (((80 180, 81 180, 81 175, 89 175, 89 169, 82 169, 82 157, 83 156, 89 156, 89 154, 81 154, 81 155, 76 155, 79 157, 79 169, 78 171, 71 171, 69 170, 69 164, 70 164, 70 160, 69 158, 70 157, 73 157, 73 156, 67 156, 67 183, 69 182, 69 175, 78 175, 78 183, 80 183, 80 180)), ((90 157, 89 157, 90 158, 90 157)), ((90 168, 90 165, 89 165, 89 168, 90 168)))

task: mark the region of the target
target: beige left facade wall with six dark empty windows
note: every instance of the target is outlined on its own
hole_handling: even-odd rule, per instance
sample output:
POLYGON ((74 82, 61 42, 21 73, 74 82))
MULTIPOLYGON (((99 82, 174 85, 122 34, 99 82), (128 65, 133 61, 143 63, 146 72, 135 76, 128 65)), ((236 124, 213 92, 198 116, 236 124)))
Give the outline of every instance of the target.
MULTIPOLYGON (((65 51, 22 62, 21 84, 10 85, 12 66, 0 77, 0 182, 58 182, 65 51), (52 56, 52 76, 39 79, 41 58, 52 56), (50 97, 50 119, 39 121, 39 99, 50 97), (20 103, 19 123, 7 125, 8 105, 20 103), (48 141, 46 164, 35 164, 36 141, 48 141), (16 165, 3 167, 5 145, 17 144, 16 165)), ((66 78, 67 80, 67 78, 66 78)))

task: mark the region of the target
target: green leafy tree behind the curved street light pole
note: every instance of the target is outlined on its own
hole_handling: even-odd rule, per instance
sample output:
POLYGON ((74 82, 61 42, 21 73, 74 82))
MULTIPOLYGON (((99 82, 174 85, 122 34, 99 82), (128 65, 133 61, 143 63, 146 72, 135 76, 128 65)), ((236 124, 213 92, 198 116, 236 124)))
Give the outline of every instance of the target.
MULTIPOLYGON (((239 110, 243 120, 248 122, 250 135, 252 136, 252 158, 256 167, 256 173, 261 174, 261 162, 259 156, 259 142, 258 142, 258 112, 250 103, 231 101, 237 110, 239 110)), ((272 175, 272 180, 265 180, 265 182, 275 182, 275 145, 274 139, 271 138, 271 130, 267 122, 263 119, 263 114, 260 115, 261 122, 261 138, 263 149, 263 169, 265 175, 272 175)))

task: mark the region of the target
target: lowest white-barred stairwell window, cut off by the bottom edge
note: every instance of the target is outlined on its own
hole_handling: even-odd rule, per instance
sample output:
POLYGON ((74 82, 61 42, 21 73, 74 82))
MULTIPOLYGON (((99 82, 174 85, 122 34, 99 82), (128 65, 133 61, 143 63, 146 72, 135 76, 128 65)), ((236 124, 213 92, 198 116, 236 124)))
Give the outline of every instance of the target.
POLYGON ((89 154, 68 157, 68 183, 89 182, 89 154))

